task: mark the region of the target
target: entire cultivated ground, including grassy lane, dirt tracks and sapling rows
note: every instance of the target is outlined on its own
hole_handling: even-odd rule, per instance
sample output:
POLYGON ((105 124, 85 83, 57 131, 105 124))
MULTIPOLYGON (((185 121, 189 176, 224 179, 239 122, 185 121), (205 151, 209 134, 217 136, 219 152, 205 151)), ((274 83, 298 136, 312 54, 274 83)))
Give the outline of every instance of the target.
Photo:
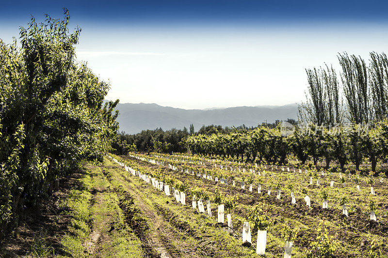
POLYGON ((18 237, 7 249, 27 257, 260 257, 256 252, 258 231, 252 221, 252 245, 242 246, 243 223, 249 221, 250 208, 259 204, 262 213, 272 220, 267 228, 265 257, 283 257, 285 224, 298 229, 292 239, 292 257, 306 257, 309 251, 315 250, 311 243, 320 241, 317 236, 322 226, 327 230, 326 244, 330 247, 338 243, 333 257, 370 257, 372 240, 378 244, 380 257, 388 257, 386 179, 380 182, 376 178, 372 196, 363 176, 360 176, 358 191, 349 175, 343 175, 346 177, 346 187, 343 187, 339 173, 333 173, 335 182, 330 187, 329 175, 320 173, 319 185, 315 178, 309 184, 309 171, 293 172, 293 167, 289 168, 290 172, 287 167, 283 171, 282 167, 272 170, 270 166, 255 167, 255 172, 246 168, 243 172, 242 167, 249 167, 244 164, 240 165, 239 172, 238 163, 223 162, 221 169, 220 161, 186 155, 109 156, 102 164, 85 164, 80 173, 65 179, 66 189, 55 195, 59 200, 58 216, 43 212, 42 217, 46 219, 35 225, 36 228, 34 225, 20 227, 18 237), (195 175, 187 171, 195 171, 195 175), (165 182, 174 179, 177 187, 185 182, 186 205, 173 197, 171 186, 171 195, 166 196, 164 190, 139 178, 139 172, 154 178, 163 175, 165 182), (247 182, 242 189, 242 178, 248 181, 247 175, 254 173, 252 192, 247 182), (208 175, 212 175, 212 180, 207 179, 208 175), (215 176, 221 175, 225 178, 233 175, 235 186, 230 180, 227 184, 215 182, 215 176), (261 193, 257 182, 261 183, 261 193), (280 182, 280 199, 276 197, 274 182, 280 182), (269 185, 273 188, 270 195, 269 185), (290 185, 295 204, 291 204, 290 185), (302 188, 307 189, 311 207, 306 206, 302 188), (322 209, 322 189, 327 190, 328 209, 322 209), (199 196, 199 190, 202 196, 209 196, 211 217, 206 201, 205 213, 198 211, 198 205, 193 209, 193 193, 199 196), (221 194, 221 202, 235 197, 235 207, 230 210, 232 234, 228 232, 226 216, 224 223, 217 223, 216 190, 221 194), (340 198, 343 196, 348 198, 348 217, 342 214, 340 198), (377 221, 370 220, 370 199, 375 202, 377 221))

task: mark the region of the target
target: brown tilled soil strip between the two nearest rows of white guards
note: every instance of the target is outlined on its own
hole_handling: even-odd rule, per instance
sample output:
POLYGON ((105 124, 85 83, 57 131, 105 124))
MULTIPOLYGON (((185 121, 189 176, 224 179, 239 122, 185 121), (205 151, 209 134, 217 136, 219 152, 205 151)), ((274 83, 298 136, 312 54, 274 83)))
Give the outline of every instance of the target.
MULTIPOLYGON (((123 157, 141 164, 142 167, 163 167, 146 161, 137 160, 129 156, 123 157)), ((370 221, 369 215, 361 212, 361 210, 349 212, 349 217, 344 217, 341 210, 330 207, 329 209, 322 209, 322 204, 314 201, 311 201, 311 208, 308 208, 305 205, 303 198, 297 198, 296 204, 291 205, 291 197, 288 196, 288 194, 284 195, 284 192, 281 193, 281 200, 278 200, 274 194, 268 196, 266 189, 262 189, 262 193, 258 194, 255 192, 249 192, 246 189, 241 189, 240 187, 233 187, 231 184, 225 185, 204 179, 203 177, 194 177, 193 175, 172 170, 168 167, 163 168, 168 175, 174 176, 174 178, 181 182, 187 182, 189 187, 193 187, 195 185, 202 189, 206 189, 206 192, 210 194, 214 193, 214 191, 218 189, 225 195, 237 196, 237 201, 244 205, 253 206, 259 203, 265 203, 266 207, 268 207, 267 212, 275 218, 275 221, 281 222, 284 218, 298 221, 298 223, 301 223, 306 226, 306 228, 309 228, 307 230, 302 228, 299 232, 299 236, 303 237, 299 237, 295 241, 295 245, 301 247, 308 247, 309 243, 316 239, 316 228, 319 226, 322 219, 331 222, 331 231, 333 233, 335 232, 336 237, 340 242, 346 243, 347 246, 350 244, 351 247, 353 247, 353 250, 349 250, 349 252, 345 251, 343 253, 338 253, 337 257, 356 257, 355 254, 368 256, 369 249, 364 245, 365 241, 368 242, 368 239, 365 239, 367 234, 383 237, 387 240, 386 243, 388 242, 388 225, 386 223, 387 215, 382 215, 381 217, 383 218, 383 221, 378 220, 378 222, 370 221), (362 248, 359 248, 360 246, 362 246, 362 248)), ((238 183, 239 182, 236 182, 236 185, 238 185, 238 183)), ((386 183, 377 182, 376 188, 377 187, 379 187, 379 189, 384 189, 386 187, 386 183)), ((384 193, 384 195, 386 195, 386 193, 384 193)), ((191 200, 191 196, 186 195, 186 199, 191 200)), ((238 209, 235 212, 237 214, 244 215, 243 212, 238 209)), ((382 243, 382 252, 385 254, 388 253, 388 246, 386 243, 382 243)))

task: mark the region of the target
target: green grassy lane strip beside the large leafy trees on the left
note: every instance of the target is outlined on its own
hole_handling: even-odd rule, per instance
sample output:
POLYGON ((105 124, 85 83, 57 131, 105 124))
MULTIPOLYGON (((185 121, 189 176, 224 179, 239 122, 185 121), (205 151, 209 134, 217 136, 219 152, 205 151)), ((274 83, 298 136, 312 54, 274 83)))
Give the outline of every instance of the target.
MULTIPOLYGON (((84 169, 80 186, 72 189, 61 203, 63 216, 70 216, 67 232, 60 243, 71 257, 144 257, 142 243, 124 221, 119 197, 100 167, 84 169), (111 227, 114 228, 109 232, 111 227), (90 241, 98 232, 97 243, 90 241), (92 242, 94 250, 88 247, 92 242)), ((92 248, 93 249, 93 248, 92 248)))

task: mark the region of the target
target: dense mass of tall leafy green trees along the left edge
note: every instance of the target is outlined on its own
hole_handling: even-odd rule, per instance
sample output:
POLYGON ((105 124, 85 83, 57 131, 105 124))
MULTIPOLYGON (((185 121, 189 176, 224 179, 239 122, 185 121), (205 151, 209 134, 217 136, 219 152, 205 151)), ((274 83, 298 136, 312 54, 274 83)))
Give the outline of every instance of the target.
POLYGON ((118 100, 104 104, 109 85, 76 62, 81 29, 69 33, 64 16, 32 17, 19 47, 0 41, 1 238, 82 159, 102 161, 118 129, 118 100))

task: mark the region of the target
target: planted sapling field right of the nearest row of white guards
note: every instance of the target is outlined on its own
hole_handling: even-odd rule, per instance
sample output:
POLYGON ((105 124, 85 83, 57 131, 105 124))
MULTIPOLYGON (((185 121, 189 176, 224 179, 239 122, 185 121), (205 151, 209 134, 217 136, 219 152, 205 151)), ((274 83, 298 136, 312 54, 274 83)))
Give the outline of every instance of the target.
MULTIPOLYGON (((142 156, 142 159, 146 159, 146 156, 142 156)), ((382 257, 387 257, 388 249, 386 246, 388 240, 388 195, 387 195, 387 181, 381 179, 380 181, 375 182, 374 192, 375 195, 371 195, 371 187, 366 183, 366 178, 360 176, 360 191, 356 188, 356 183, 349 180, 349 177, 354 177, 351 175, 343 175, 346 177, 346 187, 343 187, 343 183, 340 181, 339 173, 333 173, 332 180, 334 181, 333 187, 330 187, 329 175, 325 174, 319 176, 319 185, 316 184, 314 179, 313 184, 309 184, 310 177, 308 176, 307 171, 299 172, 299 169, 296 169, 296 172, 287 172, 287 168, 282 171, 282 168, 277 167, 272 171, 269 168, 267 170, 266 176, 263 176, 262 171, 264 169, 256 169, 256 171, 261 170, 262 179, 262 193, 258 193, 257 184, 253 187, 253 191, 249 191, 248 185, 245 189, 241 189, 241 179, 246 177, 247 172, 243 173, 230 170, 227 174, 234 174, 235 176, 235 187, 231 185, 229 181, 228 184, 222 184, 219 182, 214 182, 213 180, 204 179, 203 176, 194 176, 182 171, 182 167, 189 167, 188 170, 195 170, 201 173, 200 171, 206 171, 208 174, 212 174, 215 171, 215 174, 220 175, 220 170, 214 167, 214 164, 217 164, 217 161, 213 162, 209 159, 194 159, 188 156, 175 157, 174 160, 172 157, 162 158, 159 157, 148 157, 154 161, 159 161, 156 163, 164 162, 165 166, 159 166, 156 164, 151 164, 147 161, 142 161, 135 159, 130 156, 123 156, 120 158, 129 167, 138 167, 140 171, 142 169, 147 169, 151 171, 157 171, 162 169, 163 173, 166 176, 170 176, 176 179, 179 182, 187 182, 188 188, 193 189, 195 187, 202 189, 211 197, 213 196, 215 190, 219 190, 225 196, 234 196, 237 198, 237 207, 231 212, 232 215, 232 224, 235 230, 235 241, 230 241, 231 243, 239 243, 241 245, 241 234, 242 234, 242 224, 247 221, 248 214, 246 214, 247 206, 254 206, 260 203, 264 204, 263 211, 268 212, 270 218, 274 220, 272 227, 268 229, 267 235, 267 250, 266 256, 268 257, 279 257, 284 252, 284 240, 281 237, 281 232, 283 230, 284 224, 287 223, 291 228, 299 228, 298 235, 294 241, 294 247, 292 249, 293 257, 304 257, 306 254, 305 248, 307 250, 310 248, 310 243, 314 242, 317 238, 318 229, 321 228, 321 225, 325 225, 327 228, 332 243, 338 242, 338 250, 335 252, 335 257, 368 257, 371 250, 371 241, 377 240, 381 244, 380 249, 382 257), (188 163, 188 160, 192 163, 188 163), (202 163, 202 165, 198 165, 202 163), (168 168, 168 163, 175 164, 178 167, 177 170, 168 168), (194 164, 195 163, 195 164, 194 164), (178 165, 179 164, 179 165, 178 165), (207 170, 202 170, 206 168, 207 170), (218 170, 218 171, 217 171, 218 170), (270 181, 280 182, 280 199, 276 197, 276 191, 273 191, 271 195, 268 195, 267 186, 270 185, 270 181), (287 190, 286 186, 293 186, 293 191, 296 198, 296 203, 291 204, 291 194, 287 190), (266 185, 266 186, 265 186, 266 185), (308 191, 308 195, 311 199, 311 208, 306 206, 304 196, 301 194, 301 188, 305 187, 308 191), (327 201, 328 209, 322 209, 322 197, 320 196, 321 189, 327 190, 327 201), (342 197, 347 197, 348 201, 346 203, 349 216, 346 217, 342 215, 342 205, 340 205, 340 199, 342 197), (377 222, 370 220, 370 207, 369 200, 373 199, 376 205, 376 214, 377 222)), ((219 164, 219 162, 218 162, 219 164)), ((238 164, 231 164, 232 167, 237 167, 238 164), (234 166, 233 166, 234 165, 234 166)), ((218 165, 220 167, 220 165, 218 165)), ((185 168, 187 169, 187 168, 185 168)), ((242 169, 241 169, 242 170, 242 169)), ((291 171, 290 170, 290 171, 291 171)), ((151 172, 152 173, 152 172, 151 172)), ((190 191, 187 191, 190 192, 190 191)), ((162 196, 163 193, 160 193, 162 196)), ((192 196, 186 194, 186 200, 191 200, 192 196)), ((174 203, 174 201, 171 201, 174 203)), ((191 203, 191 202, 190 202, 191 203)), ((189 204, 190 204, 189 203, 189 204)), ((179 204, 176 204, 180 206, 179 204)), ((189 211, 194 214, 197 213, 197 210, 193 210, 191 205, 189 205, 189 211)), ((217 205, 211 203, 212 214, 217 214, 217 205)), ((184 214, 184 213, 182 213, 184 214)), ((187 216, 183 217, 184 220, 187 220, 187 216)), ((204 216, 204 215, 202 215, 204 216)), ((190 220, 195 220, 195 216, 190 220)), ((211 221, 211 219, 210 219, 211 221)), ((216 222, 216 219, 212 220, 213 223, 216 222)), ((195 223, 194 223, 195 224, 195 223)), ((196 223, 197 224, 197 223, 196 223)), ((199 225, 199 224, 198 224, 199 225)), ((223 225, 214 224, 217 227, 223 228, 223 231, 226 231, 227 224, 223 225)), ((201 228, 200 226, 198 226, 201 228)), ((212 230, 205 230, 207 233, 210 233, 212 230)), ((256 231, 257 232, 257 231, 256 231)), ((256 243, 255 232, 252 232, 252 243, 256 243)), ((255 253, 256 245, 253 244, 250 248, 245 248, 245 251, 251 251, 252 254, 255 253)), ((236 253, 230 253, 230 250, 227 248, 224 250, 224 254, 220 256, 233 256, 238 255, 238 249, 233 251, 236 253)), ((204 252, 211 256, 209 250, 204 250, 204 252)), ((252 255, 250 254, 250 255, 252 255)), ((238 255, 240 256, 240 255, 238 255)))

